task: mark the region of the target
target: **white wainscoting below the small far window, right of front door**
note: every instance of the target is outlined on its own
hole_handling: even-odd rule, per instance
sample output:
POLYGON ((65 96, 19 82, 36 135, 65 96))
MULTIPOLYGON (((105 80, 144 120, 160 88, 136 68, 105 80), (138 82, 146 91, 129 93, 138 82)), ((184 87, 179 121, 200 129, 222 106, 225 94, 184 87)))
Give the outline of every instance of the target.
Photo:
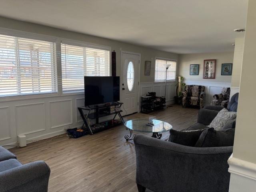
MULTIPOLYGON (((167 82, 166 85, 166 105, 174 104, 176 96, 176 81, 167 82)), ((140 83, 140 95, 148 92, 156 92, 156 96, 164 96, 165 82, 146 82, 140 83)))

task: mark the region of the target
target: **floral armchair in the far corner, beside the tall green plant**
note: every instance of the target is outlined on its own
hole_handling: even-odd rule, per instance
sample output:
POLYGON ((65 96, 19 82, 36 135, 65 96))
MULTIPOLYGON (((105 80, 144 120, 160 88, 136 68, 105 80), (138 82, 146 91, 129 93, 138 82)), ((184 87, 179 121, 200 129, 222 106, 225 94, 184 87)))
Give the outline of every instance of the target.
POLYGON ((182 107, 204 105, 204 86, 201 85, 186 85, 182 92, 182 107))

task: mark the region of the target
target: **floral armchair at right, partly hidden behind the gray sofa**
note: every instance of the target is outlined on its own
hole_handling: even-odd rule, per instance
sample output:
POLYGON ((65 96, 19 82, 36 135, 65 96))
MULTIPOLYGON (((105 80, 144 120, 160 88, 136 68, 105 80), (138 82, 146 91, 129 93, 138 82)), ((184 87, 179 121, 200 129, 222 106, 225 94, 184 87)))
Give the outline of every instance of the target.
POLYGON ((227 107, 230 97, 230 87, 222 88, 222 92, 220 94, 215 94, 213 96, 213 100, 211 105, 220 105, 222 107, 227 107))

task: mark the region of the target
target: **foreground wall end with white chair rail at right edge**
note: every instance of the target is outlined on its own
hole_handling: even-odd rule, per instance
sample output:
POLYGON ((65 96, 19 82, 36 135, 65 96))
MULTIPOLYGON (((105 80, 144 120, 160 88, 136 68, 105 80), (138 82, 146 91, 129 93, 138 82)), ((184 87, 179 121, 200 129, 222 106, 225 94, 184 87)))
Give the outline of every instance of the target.
POLYGON ((256 102, 253 88, 256 71, 256 1, 249 0, 244 54, 240 81, 240 94, 236 119, 233 156, 230 165, 230 192, 255 192, 256 190, 256 102))

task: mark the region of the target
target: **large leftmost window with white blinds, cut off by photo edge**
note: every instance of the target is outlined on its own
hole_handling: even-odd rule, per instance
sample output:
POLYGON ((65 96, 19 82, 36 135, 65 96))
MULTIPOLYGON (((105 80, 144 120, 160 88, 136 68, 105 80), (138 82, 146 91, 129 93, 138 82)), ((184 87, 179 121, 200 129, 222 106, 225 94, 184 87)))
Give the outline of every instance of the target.
POLYGON ((0 35, 0 96, 58 92, 55 46, 0 35))

